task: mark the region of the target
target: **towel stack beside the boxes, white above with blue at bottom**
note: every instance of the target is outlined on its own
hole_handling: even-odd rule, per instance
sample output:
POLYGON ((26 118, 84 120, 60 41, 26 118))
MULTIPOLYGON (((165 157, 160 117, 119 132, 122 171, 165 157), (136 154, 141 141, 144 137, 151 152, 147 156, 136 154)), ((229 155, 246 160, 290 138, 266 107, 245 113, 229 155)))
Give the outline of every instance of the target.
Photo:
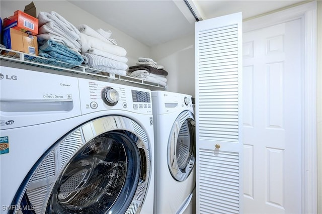
POLYGON ((71 65, 83 63, 84 59, 79 53, 79 31, 72 24, 56 12, 39 12, 38 23, 39 56, 71 65))

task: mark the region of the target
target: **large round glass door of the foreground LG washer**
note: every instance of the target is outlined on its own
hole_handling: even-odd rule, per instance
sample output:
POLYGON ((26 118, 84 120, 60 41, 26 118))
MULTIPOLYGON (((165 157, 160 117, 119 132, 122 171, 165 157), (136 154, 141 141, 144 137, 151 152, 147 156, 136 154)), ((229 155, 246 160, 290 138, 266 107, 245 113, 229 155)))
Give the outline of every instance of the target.
POLYGON ((13 204, 32 213, 138 213, 151 171, 147 139, 131 119, 92 120, 39 159, 13 204))

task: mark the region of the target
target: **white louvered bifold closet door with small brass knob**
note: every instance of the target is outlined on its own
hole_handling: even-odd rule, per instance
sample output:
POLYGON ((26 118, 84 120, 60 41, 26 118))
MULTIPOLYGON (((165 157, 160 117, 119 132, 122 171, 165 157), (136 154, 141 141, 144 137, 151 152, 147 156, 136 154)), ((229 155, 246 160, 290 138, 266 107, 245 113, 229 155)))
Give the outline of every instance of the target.
POLYGON ((241 13, 196 23, 197 213, 243 211, 241 13))

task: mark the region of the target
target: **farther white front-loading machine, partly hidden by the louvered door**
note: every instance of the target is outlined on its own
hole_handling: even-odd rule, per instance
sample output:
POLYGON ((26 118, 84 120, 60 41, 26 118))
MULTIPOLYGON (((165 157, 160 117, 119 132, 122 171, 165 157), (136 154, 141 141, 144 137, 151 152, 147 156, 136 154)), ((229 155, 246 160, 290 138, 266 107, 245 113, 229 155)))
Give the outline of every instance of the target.
POLYGON ((151 91, 154 119, 154 213, 183 213, 195 188, 195 119, 191 96, 151 91))

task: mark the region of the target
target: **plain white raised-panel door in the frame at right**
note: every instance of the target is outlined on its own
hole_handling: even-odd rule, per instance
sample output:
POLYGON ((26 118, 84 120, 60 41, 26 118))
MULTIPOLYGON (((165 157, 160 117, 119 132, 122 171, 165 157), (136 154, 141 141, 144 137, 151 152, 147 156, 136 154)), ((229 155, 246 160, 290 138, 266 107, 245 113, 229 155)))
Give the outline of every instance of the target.
POLYGON ((243 43, 244 213, 301 213, 301 20, 243 43))

